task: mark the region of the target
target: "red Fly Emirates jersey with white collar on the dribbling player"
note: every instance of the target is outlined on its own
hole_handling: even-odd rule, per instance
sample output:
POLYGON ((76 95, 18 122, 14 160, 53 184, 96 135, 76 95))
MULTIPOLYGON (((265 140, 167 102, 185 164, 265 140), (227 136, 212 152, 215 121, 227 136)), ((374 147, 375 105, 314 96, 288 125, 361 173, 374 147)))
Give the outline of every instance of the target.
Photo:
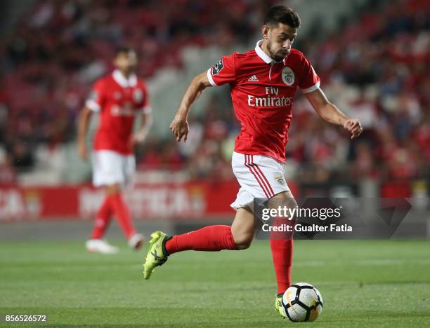
POLYGON ((291 49, 275 62, 260 48, 222 57, 207 71, 212 86, 230 83, 231 99, 240 135, 235 151, 266 155, 285 162, 285 146, 297 87, 311 93, 320 87, 320 78, 299 50, 291 49))

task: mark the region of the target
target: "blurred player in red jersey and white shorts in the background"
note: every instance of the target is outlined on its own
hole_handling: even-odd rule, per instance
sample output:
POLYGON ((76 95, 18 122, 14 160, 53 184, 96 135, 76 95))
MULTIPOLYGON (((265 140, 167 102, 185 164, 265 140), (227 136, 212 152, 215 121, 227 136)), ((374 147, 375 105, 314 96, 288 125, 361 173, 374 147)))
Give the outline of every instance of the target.
POLYGON ((129 208, 122 198, 124 187, 131 186, 136 170, 133 146, 143 142, 152 123, 151 107, 145 83, 136 77, 136 52, 120 47, 115 52, 112 74, 100 78, 79 116, 78 151, 86 160, 86 132, 91 114, 99 114, 99 125, 93 140, 93 185, 105 188, 105 200, 98 210, 91 239, 86 242, 90 252, 112 254, 117 247, 103 240, 113 216, 133 249, 141 247, 143 236, 136 233, 129 208), (141 129, 133 133, 136 115, 141 115, 141 129))

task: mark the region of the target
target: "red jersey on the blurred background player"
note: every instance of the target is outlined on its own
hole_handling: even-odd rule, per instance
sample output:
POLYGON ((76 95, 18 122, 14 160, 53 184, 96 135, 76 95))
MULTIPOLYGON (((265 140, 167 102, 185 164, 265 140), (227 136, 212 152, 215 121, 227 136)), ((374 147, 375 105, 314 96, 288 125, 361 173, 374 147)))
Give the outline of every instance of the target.
POLYGON ((136 75, 128 79, 118 70, 100 78, 86 100, 86 107, 100 112, 100 122, 94 137, 94 150, 112 150, 129 155, 133 149, 129 140, 134 117, 138 111, 151 111, 145 83, 136 75))

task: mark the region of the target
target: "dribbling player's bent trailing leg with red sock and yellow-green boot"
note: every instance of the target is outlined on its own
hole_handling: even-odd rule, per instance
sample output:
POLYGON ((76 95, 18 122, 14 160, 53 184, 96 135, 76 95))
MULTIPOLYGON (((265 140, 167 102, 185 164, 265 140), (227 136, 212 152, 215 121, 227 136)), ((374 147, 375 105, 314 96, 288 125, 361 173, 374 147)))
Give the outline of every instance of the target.
POLYGON ((254 214, 248 208, 239 208, 231 226, 205 226, 204 228, 168 237, 161 231, 152 233, 150 249, 143 264, 143 277, 149 279, 155 267, 167 257, 185 250, 216 252, 245 250, 254 238, 254 214))

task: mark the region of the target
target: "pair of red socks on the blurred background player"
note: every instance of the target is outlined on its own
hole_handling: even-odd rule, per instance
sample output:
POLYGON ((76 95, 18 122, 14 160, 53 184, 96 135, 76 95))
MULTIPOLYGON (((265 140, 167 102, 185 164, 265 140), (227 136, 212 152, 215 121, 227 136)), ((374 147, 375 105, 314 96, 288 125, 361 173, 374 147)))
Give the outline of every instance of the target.
POLYGON ((129 207, 124 203, 121 194, 115 193, 113 195, 106 196, 100 210, 98 210, 91 239, 103 238, 112 214, 115 214, 119 226, 121 226, 126 238, 130 238, 134 233, 136 233, 133 223, 131 222, 129 207))

